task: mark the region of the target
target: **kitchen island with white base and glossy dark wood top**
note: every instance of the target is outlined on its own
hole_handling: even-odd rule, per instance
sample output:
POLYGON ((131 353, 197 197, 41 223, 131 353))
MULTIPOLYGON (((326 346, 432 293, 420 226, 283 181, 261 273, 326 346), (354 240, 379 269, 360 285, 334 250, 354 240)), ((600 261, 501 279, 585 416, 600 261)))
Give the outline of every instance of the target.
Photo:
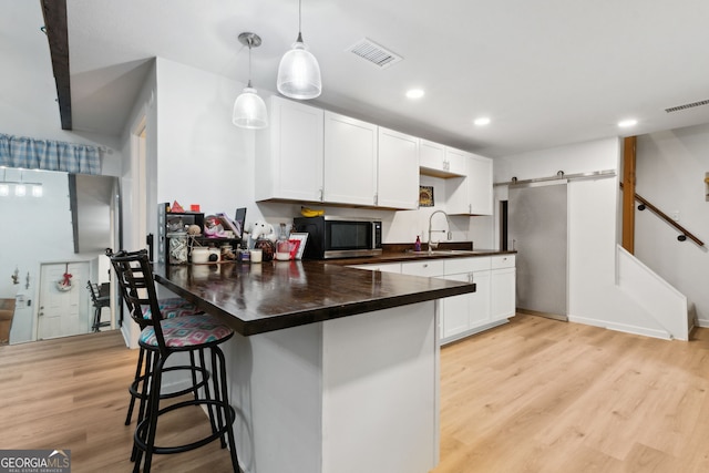
POLYGON ((242 469, 424 473, 439 457, 435 300, 474 284, 319 261, 155 268, 227 321, 242 469))

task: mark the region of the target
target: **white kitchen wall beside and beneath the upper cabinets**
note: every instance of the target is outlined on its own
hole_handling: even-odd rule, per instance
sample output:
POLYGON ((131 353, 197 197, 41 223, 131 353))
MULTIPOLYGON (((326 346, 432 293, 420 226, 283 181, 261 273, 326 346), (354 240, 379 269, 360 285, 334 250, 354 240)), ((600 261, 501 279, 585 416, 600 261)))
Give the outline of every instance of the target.
MULTIPOLYGON (((266 219, 275 227, 290 225, 300 204, 256 203, 254 193, 255 133, 232 124, 234 100, 244 84, 174 61, 157 59, 157 203, 177 200, 183 207, 199 204, 205 214, 247 207, 247 226, 266 219)), ((261 93, 267 99, 267 93, 261 93)), ((425 241, 429 215, 441 208, 444 179, 422 176, 422 185, 433 185, 436 207, 420 210, 377 210, 318 206, 328 214, 368 216, 383 222, 384 243, 411 243, 417 235, 425 241)), ((476 220, 484 217, 451 217, 452 240, 480 236, 490 247, 492 237, 475 234, 476 220)), ((436 220, 438 222, 438 220, 436 220)), ((436 226, 438 228, 438 226, 436 226)), ((155 227, 156 232, 156 227, 155 227)))

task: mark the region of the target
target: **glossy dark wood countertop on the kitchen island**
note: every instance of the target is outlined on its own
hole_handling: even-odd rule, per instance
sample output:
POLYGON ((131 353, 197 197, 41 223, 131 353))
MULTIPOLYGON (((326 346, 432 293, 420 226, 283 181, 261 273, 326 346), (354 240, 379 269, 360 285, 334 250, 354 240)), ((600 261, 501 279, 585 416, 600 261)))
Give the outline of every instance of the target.
POLYGON ((243 336, 475 291, 474 284, 308 260, 156 264, 155 279, 243 336))

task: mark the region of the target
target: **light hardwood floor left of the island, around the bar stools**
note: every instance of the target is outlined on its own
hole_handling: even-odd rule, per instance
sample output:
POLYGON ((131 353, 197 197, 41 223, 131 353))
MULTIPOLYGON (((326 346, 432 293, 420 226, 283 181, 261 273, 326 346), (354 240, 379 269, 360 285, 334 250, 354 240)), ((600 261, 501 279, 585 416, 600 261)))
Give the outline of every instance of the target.
MULTIPOLYGON (((123 423, 136 360, 117 331, 0 347, 0 449, 65 449, 73 473, 131 472, 135 421, 123 423)), ((181 409, 161 417, 157 443, 207 430, 201 408, 181 409)), ((155 472, 232 470, 218 442, 154 459, 155 472)))

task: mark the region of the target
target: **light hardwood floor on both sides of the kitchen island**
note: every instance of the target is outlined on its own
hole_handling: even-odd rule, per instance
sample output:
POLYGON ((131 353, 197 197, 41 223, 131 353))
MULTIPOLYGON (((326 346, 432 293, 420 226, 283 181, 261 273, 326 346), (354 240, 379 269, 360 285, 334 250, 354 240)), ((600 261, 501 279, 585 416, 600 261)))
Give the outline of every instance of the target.
MULTIPOLYGON (((0 449, 70 449, 74 473, 131 471, 135 356, 116 332, 0 347, 0 449)), ((445 347, 441 371, 432 473, 709 471, 709 329, 665 341, 518 315, 445 347)), ((195 408, 164 425, 203 420, 195 408)), ((154 466, 230 470, 216 443, 154 466)))

